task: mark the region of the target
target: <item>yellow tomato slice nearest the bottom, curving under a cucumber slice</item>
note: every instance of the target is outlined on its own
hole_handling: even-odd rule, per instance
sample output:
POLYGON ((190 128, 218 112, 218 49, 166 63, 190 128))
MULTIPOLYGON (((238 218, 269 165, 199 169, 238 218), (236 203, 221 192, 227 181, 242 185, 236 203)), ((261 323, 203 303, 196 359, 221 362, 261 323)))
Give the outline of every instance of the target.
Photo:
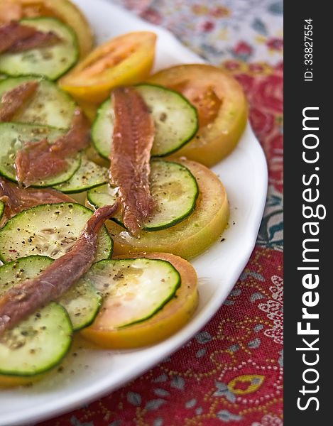
POLYGON ((93 324, 81 331, 86 339, 105 348, 135 348, 159 342, 183 327, 197 307, 197 274, 190 263, 170 253, 141 253, 131 257, 162 259, 172 263, 180 273, 181 285, 175 297, 153 317, 128 327, 109 327, 114 312, 108 310, 105 300, 93 324))

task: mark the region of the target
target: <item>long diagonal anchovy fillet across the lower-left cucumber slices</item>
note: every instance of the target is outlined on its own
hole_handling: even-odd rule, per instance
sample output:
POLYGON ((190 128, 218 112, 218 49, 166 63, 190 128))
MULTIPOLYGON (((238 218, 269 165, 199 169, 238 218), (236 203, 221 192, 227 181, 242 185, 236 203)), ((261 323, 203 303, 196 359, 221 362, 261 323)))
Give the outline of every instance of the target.
POLYGON ((11 288, 0 298, 0 334, 38 307, 57 300, 89 271, 97 251, 99 230, 117 209, 118 203, 97 209, 71 251, 56 259, 38 277, 11 288))

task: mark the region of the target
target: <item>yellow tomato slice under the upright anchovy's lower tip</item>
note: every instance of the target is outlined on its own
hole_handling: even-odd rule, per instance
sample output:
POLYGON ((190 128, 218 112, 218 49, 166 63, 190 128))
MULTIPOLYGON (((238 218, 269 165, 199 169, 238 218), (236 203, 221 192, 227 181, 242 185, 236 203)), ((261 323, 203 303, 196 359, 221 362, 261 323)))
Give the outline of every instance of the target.
POLYGON ((161 251, 189 259, 206 250, 224 231, 229 219, 229 204, 217 175, 195 161, 177 161, 197 180, 199 197, 194 212, 168 229, 141 231, 140 238, 131 236, 119 224, 107 221, 115 255, 161 251))

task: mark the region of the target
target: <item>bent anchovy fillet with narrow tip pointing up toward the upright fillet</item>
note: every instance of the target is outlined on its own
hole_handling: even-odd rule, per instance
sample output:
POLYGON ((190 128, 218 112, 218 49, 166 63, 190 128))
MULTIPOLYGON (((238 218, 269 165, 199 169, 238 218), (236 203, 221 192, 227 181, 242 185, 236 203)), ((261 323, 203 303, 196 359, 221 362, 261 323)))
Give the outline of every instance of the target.
POLYGON ((26 143, 16 153, 15 168, 18 182, 24 186, 62 173, 68 167, 67 158, 89 145, 89 123, 82 111, 75 111, 71 129, 54 143, 47 139, 26 143))

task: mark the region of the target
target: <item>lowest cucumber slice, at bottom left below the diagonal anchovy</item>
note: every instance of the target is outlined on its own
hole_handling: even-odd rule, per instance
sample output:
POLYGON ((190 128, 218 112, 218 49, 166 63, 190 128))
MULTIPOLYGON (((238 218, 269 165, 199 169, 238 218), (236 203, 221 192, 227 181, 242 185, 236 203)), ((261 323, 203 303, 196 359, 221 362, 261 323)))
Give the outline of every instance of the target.
POLYGON ((66 310, 52 302, 0 336, 0 374, 34 376, 59 364, 72 342, 66 310))

